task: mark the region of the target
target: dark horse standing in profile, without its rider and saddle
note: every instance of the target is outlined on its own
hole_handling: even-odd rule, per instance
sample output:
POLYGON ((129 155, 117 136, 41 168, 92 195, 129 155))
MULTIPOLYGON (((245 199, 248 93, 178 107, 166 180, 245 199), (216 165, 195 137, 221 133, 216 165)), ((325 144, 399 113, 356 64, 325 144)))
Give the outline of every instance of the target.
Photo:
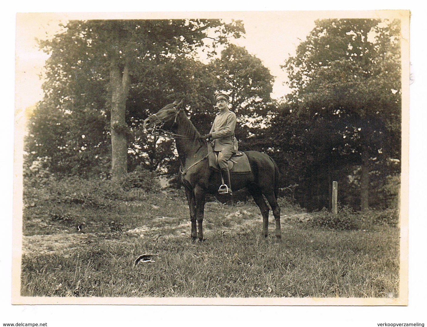
MULTIPOLYGON (((221 184, 219 172, 209 168, 208 147, 182 108, 182 101, 175 101, 161 108, 157 113, 144 120, 144 128, 153 132, 162 132, 174 137, 176 149, 181 160, 181 181, 185 187, 190 207, 191 239, 203 240, 203 215, 205 196, 215 194, 221 184)), ((267 237, 269 202, 276 221, 276 237, 281 239, 280 207, 277 204, 279 171, 276 163, 268 155, 257 152, 245 152, 252 172, 242 175, 231 174, 233 190, 247 187, 263 216, 262 235, 267 237)))

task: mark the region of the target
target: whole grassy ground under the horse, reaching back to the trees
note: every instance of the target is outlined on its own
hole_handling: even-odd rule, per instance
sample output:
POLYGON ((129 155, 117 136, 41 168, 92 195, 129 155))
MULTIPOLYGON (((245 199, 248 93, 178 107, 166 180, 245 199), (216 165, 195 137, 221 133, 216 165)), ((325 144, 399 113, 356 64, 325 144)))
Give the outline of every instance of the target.
MULTIPOLYGON (((205 242, 190 241, 182 190, 106 206, 26 199, 21 295, 50 297, 396 298, 399 229, 313 228, 286 199, 281 243, 260 236, 252 201, 208 202, 205 242), (154 254, 151 263, 134 260, 154 254)), ((79 201, 74 201, 79 202, 79 201)))

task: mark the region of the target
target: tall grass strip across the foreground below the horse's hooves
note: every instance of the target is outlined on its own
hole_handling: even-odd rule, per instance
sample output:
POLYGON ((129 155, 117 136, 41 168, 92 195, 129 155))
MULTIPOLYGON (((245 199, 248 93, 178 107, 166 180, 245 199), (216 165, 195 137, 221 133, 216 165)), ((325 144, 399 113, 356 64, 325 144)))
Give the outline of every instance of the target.
POLYGON ((22 260, 23 296, 390 297, 398 295, 396 231, 307 232, 285 240, 213 234, 96 239, 22 260), (307 237, 307 234, 309 236, 307 237), (392 246, 390 246, 392 245, 392 246), (133 266, 139 254, 155 263, 133 266))

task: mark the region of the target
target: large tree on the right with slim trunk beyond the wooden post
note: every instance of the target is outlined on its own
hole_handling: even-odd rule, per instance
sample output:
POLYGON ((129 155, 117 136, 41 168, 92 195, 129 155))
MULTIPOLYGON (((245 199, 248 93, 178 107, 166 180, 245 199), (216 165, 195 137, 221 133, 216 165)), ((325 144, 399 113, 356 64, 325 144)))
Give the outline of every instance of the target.
POLYGON ((395 150, 401 122, 399 31, 398 21, 317 20, 283 66, 293 89, 288 100, 294 114, 306 119, 307 140, 321 126, 330 132, 317 138, 326 144, 316 152, 332 151, 343 162, 360 164, 362 210, 369 207, 373 165, 378 170, 400 155, 395 150))

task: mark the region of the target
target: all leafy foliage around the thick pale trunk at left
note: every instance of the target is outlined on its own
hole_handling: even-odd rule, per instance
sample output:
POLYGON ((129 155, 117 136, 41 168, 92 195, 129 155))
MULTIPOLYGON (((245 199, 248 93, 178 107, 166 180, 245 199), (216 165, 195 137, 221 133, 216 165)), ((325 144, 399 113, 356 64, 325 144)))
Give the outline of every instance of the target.
MULTIPOLYGON (((240 21, 200 19, 72 20, 62 27, 52 40, 40 42, 50 54, 45 97, 31 113, 26 151, 29 162, 50 158, 54 173, 87 177, 108 175, 105 163, 112 158, 126 162, 132 156, 126 149, 137 148, 132 141, 153 141, 132 133, 150 109, 206 90, 209 83, 190 82, 201 76, 192 73, 193 66, 203 72, 193 58, 198 47, 213 54, 217 45, 244 33, 240 21), (115 136, 126 137, 124 153, 115 146, 118 152, 111 152, 115 136)), ((131 163, 131 170, 141 162, 131 163)), ((155 170, 159 163, 149 164, 155 170)))

